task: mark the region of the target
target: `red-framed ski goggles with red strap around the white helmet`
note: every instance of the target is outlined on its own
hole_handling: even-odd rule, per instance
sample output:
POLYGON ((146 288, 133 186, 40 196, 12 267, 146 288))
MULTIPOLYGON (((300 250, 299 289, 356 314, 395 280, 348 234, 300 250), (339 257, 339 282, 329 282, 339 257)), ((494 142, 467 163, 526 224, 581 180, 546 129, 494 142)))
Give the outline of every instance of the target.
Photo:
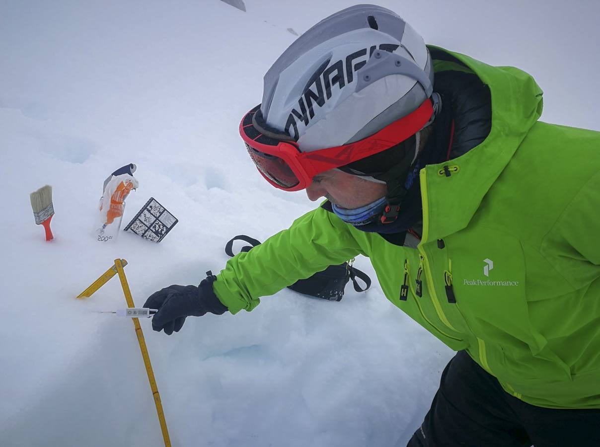
POLYGON ((271 185, 285 191, 308 187, 313 177, 356 160, 385 151, 421 130, 433 115, 433 104, 426 99, 409 115, 392 122, 373 135, 346 145, 301 152, 287 133, 265 130, 257 124, 260 104, 248 112, 239 124, 250 158, 271 185))

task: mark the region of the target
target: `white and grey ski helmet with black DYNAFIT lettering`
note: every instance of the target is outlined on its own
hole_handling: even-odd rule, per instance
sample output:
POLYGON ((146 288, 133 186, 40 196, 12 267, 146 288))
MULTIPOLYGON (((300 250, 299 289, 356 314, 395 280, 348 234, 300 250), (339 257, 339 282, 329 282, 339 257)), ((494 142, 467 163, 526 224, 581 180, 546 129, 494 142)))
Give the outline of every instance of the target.
POLYGON ((356 5, 321 20, 275 61, 256 118, 310 152, 364 139, 432 93, 421 35, 386 8, 356 5))

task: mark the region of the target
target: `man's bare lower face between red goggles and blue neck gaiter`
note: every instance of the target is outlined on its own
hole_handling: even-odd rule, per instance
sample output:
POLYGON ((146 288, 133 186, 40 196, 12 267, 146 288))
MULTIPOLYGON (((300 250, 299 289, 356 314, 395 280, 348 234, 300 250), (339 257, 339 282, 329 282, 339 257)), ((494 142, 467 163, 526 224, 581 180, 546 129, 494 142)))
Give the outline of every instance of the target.
POLYGON ((310 200, 325 197, 341 208, 355 209, 385 196, 385 184, 370 182, 355 175, 332 169, 314 176, 306 188, 310 200))

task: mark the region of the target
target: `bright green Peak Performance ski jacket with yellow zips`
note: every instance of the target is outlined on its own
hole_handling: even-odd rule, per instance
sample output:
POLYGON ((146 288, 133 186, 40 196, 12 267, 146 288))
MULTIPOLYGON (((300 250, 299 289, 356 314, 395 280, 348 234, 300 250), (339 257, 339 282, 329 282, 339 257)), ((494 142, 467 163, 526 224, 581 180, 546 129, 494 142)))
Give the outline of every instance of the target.
POLYGON ((318 208, 229 260, 215 293, 232 313, 250 311, 362 254, 389 301, 509 394, 600 408, 600 133, 538 121, 542 91, 529 74, 440 52, 436 72, 475 73, 490 88, 491 131, 421 170, 418 247, 318 208))

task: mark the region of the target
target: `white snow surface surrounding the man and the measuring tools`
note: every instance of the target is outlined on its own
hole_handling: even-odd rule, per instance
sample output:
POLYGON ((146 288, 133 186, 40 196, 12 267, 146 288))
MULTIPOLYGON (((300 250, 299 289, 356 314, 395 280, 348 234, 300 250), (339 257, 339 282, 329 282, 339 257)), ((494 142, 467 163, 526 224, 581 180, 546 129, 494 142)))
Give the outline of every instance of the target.
MULTIPOLYGON (((118 280, 74 297, 121 257, 142 305, 223 268, 230 237, 264 240, 314 207, 260 177, 238 123, 287 28, 351 4, 0 2, 0 445, 164 445, 132 323, 96 312, 125 307, 118 280), (124 222, 154 196, 179 219, 160 244, 90 236, 104 179, 131 162, 124 222), (44 184, 51 243, 28 199, 44 184)), ((596 2, 380 4, 429 43, 532 73, 543 119, 600 128, 596 2)), ((341 302, 283 290, 171 337, 140 322, 173 446, 405 445, 453 355, 376 281, 341 302)))

